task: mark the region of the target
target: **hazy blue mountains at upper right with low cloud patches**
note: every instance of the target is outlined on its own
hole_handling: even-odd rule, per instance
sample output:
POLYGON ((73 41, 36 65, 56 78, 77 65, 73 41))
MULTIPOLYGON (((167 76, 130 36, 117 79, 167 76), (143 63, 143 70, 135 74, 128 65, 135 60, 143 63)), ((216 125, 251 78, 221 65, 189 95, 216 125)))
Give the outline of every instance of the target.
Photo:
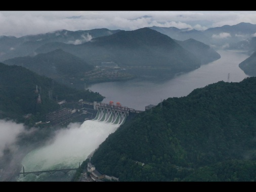
MULTIPOLYGON (((150 27, 171 38, 187 40, 193 38, 203 42, 215 50, 240 50, 247 52, 250 56, 242 62, 239 67, 248 75, 256 75, 256 25, 250 23, 239 23, 237 25, 224 25, 222 27, 209 28, 204 31, 195 29, 178 29, 175 27, 150 27), (245 64, 246 63, 246 64, 245 64)), ((190 49, 193 50, 193 49, 190 49)))

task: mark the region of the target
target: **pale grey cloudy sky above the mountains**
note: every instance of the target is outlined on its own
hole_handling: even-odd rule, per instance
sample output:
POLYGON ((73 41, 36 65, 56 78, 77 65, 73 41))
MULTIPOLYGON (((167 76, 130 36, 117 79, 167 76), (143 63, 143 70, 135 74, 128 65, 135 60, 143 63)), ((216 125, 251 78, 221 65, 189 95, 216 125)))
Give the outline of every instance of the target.
POLYGON ((151 26, 205 30, 240 22, 256 24, 256 11, 0 11, 0 36, 151 26))

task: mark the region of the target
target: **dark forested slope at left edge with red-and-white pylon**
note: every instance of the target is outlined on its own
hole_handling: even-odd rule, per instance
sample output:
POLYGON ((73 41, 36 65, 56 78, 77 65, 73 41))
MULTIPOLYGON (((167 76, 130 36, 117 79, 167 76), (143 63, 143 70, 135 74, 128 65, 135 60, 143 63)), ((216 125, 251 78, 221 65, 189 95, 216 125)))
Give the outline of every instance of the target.
POLYGON ((98 92, 69 88, 16 65, 0 63, 0 82, 0 119, 23 122, 23 116, 30 113, 35 121, 42 120, 47 113, 60 109, 57 101, 78 102, 83 99, 100 102, 104 99, 98 92))

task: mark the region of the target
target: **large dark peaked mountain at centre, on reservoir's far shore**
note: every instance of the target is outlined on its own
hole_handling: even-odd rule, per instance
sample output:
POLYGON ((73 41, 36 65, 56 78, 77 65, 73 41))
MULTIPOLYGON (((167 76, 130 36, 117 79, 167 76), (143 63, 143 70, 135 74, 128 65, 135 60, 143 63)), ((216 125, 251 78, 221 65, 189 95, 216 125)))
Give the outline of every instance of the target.
POLYGON ((115 62, 129 73, 148 77, 172 77, 201 64, 174 39, 149 28, 119 31, 78 45, 45 44, 35 52, 47 53, 59 48, 95 66, 115 62))

